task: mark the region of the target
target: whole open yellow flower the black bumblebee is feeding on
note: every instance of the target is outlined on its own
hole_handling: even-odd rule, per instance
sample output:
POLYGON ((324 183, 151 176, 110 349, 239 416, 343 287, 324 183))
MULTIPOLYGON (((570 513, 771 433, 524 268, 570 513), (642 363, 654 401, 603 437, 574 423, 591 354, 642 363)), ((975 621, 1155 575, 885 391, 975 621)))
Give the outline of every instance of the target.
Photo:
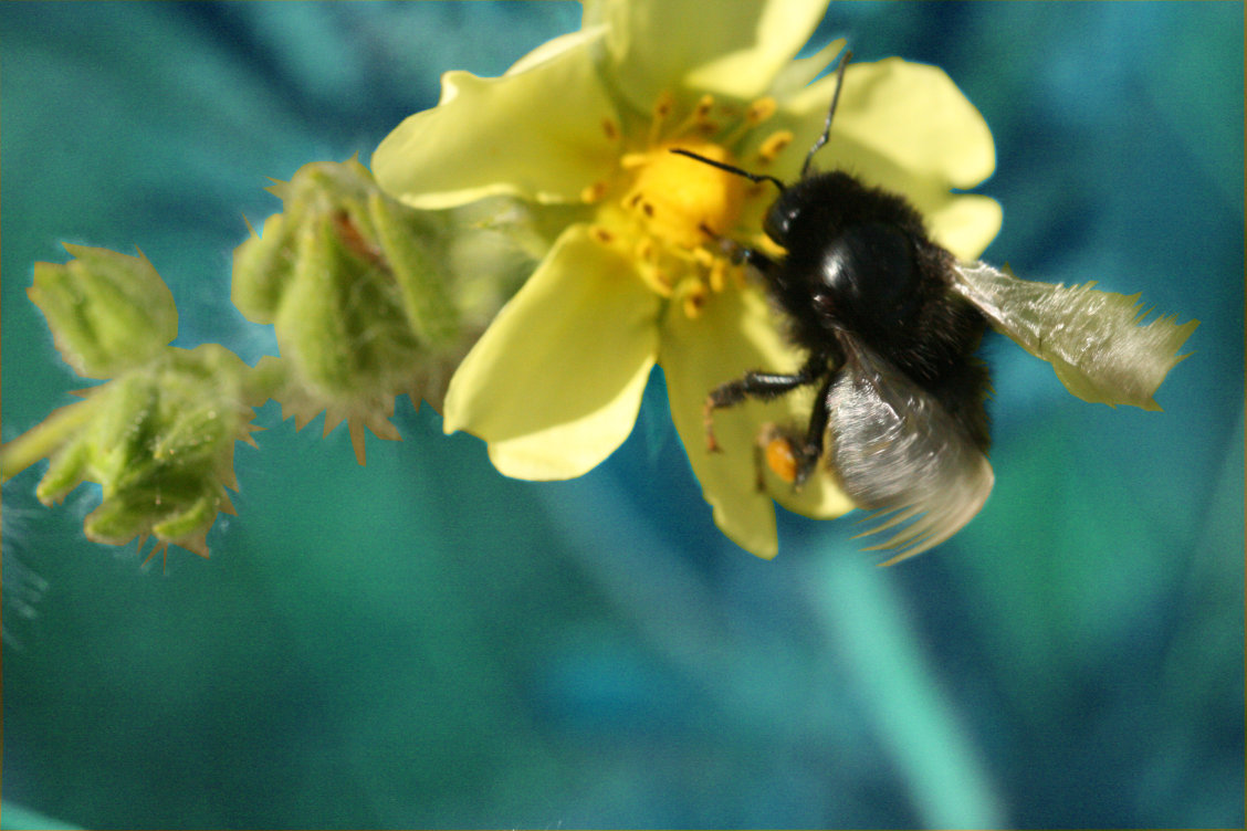
MULTIPOLYGON (((823 0, 584 6, 580 31, 503 77, 448 72, 439 106, 404 121, 373 156, 378 183, 410 206, 505 194, 557 232, 451 379, 445 429, 484 439, 508 476, 580 476, 627 437, 658 364, 715 521, 773 557, 772 498, 813 517, 853 507, 826 472, 801 492, 757 486, 761 425, 808 417, 808 397, 723 411, 725 452, 706 450, 711 389, 801 361, 720 242, 766 244, 761 219, 776 192, 670 150, 792 181, 834 87, 831 76, 811 81, 843 44, 794 60, 823 0)), ((981 182, 995 157, 983 117, 935 67, 850 65, 818 162, 907 196, 958 257, 976 257, 999 229, 995 202, 950 193, 981 182)))

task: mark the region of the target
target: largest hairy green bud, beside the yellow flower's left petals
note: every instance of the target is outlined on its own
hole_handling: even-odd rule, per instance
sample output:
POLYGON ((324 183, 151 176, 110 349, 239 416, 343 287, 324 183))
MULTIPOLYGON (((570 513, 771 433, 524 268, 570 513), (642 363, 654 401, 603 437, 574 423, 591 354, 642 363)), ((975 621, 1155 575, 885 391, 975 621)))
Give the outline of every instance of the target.
POLYGON ((234 304, 276 329, 283 412, 347 420, 363 461, 363 429, 397 437, 395 395, 440 401, 481 328, 451 294, 449 221, 385 196, 355 159, 307 164, 271 191, 284 211, 236 249, 234 304))

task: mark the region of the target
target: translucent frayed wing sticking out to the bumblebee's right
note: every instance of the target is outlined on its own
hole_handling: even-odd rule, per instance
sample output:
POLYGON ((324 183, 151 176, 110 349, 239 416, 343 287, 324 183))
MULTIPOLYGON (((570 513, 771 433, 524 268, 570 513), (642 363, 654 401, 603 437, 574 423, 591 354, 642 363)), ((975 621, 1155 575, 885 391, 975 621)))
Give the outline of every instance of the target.
POLYGON ((1140 325, 1139 295, 1086 285, 1035 283, 986 263, 954 268, 954 290, 976 305, 996 331, 1050 363, 1061 384, 1084 401, 1160 410, 1152 399, 1165 375, 1186 358, 1175 353, 1198 320, 1160 316, 1140 325))

